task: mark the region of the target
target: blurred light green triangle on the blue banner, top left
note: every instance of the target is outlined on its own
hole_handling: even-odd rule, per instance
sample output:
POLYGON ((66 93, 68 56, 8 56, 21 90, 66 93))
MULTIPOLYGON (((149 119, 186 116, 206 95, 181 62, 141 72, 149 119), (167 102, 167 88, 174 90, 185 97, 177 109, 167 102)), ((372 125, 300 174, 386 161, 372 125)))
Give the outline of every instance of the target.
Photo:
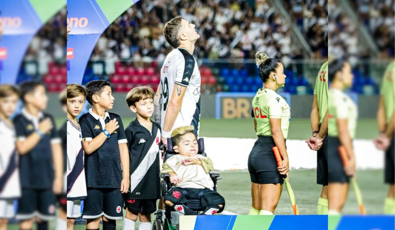
POLYGON ((29 0, 43 24, 66 6, 65 0, 29 0))

